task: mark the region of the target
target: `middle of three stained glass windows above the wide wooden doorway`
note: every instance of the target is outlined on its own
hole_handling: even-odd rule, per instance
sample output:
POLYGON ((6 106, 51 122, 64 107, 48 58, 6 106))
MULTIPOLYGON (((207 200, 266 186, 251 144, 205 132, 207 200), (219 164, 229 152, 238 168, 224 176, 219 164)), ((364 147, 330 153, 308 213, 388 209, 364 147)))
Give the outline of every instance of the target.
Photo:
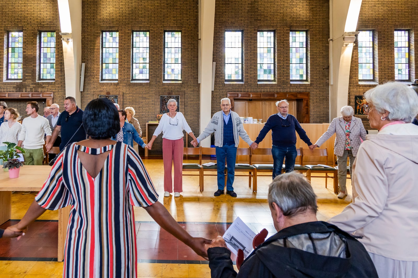
POLYGON ((274 32, 257 32, 257 79, 274 80, 274 32))

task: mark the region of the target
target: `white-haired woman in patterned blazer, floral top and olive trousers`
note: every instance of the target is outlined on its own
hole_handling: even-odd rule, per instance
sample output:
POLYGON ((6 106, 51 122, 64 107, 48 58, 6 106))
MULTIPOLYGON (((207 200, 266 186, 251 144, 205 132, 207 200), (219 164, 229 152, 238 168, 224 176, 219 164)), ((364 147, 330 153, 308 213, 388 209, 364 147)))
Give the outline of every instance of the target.
POLYGON ((360 138, 366 140, 366 130, 364 129, 362 119, 353 117, 354 109, 351 106, 341 108, 341 117, 334 118, 329 124, 328 130, 316 141, 314 147, 319 147, 336 133, 334 143, 334 153, 338 162, 338 198, 347 196, 347 157, 350 160, 350 174, 352 174, 352 165, 361 144, 360 138))

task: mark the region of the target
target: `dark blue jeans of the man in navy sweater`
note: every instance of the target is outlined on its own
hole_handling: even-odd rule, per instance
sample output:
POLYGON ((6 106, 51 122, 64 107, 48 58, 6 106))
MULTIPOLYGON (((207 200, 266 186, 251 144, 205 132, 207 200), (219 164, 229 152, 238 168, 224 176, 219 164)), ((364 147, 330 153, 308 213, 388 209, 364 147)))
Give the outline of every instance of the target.
POLYGON ((292 172, 295 168, 295 160, 298 153, 296 152, 296 145, 290 147, 279 147, 272 145, 271 154, 273 155, 273 179, 282 173, 283 159, 285 160, 286 173, 292 172))

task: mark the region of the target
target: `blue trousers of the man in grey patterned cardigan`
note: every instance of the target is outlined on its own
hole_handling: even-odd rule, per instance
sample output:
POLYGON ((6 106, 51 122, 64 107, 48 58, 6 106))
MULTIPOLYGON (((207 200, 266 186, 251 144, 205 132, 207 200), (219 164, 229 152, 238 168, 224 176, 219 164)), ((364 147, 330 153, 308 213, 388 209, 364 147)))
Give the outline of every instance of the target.
POLYGON ((232 191, 232 183, 235 178, 235 160, 237 159, 237 148, 235 145, 215 147, 216 148, 216 168, 218 170, 218 189, 225 188, 225 158, 227 159, 227 190, 232 191))

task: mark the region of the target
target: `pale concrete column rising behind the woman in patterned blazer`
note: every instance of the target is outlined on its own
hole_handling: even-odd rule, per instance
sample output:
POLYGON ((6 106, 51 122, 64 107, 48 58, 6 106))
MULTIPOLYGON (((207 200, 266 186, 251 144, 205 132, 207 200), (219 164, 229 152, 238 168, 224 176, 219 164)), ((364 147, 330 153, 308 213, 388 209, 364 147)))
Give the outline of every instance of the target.
POLYGON ((331 0, 329 42, 329 117, 340 116, 348 103, 348 85, 354 36, 362 0, 331 0))

